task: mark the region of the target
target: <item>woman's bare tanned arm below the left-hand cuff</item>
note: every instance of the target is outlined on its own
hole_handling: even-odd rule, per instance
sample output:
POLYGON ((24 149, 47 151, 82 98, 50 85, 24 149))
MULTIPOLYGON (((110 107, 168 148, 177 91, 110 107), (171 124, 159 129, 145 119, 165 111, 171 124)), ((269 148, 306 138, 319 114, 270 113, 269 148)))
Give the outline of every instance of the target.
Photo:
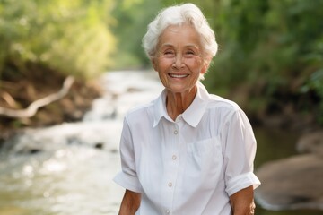
POLYGON ((133 191, 126 190, 122 199, 119 215, 134 215, 140 206, 141 195, 133 191))

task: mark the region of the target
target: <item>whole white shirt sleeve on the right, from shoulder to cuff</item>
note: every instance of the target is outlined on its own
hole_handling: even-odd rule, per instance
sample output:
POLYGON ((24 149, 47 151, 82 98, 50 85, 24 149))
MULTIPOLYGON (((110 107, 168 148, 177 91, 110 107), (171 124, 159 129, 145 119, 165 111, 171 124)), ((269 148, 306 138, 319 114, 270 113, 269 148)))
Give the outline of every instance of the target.
POLYGON ((225 191, 231 196, 250 185, 256 189, 260 185, 253 173, 257 143, 249 120, 240 108, 228 117, 222 138, 225 191))

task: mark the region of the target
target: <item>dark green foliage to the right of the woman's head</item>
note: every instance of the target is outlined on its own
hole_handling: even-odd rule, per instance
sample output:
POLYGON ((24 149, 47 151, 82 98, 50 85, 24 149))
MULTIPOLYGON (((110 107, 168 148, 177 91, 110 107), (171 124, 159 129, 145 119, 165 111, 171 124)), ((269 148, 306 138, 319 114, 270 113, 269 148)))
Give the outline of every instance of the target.
POLYGON ((231 98, 243 89, 240 105, 258 115, 282 112, 289 103, 293 111, 304 111, 301 98, 314 93, 321 109, 307 111, 322 118, 323 1, 214 2, 220 51, 206 77, 208 87, 231 98))

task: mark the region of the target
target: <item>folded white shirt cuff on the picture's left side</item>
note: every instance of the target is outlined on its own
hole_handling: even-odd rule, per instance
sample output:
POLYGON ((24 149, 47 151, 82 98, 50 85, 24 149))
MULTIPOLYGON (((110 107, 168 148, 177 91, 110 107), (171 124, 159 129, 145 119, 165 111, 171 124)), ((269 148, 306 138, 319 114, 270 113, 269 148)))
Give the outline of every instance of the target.
POLYGON ((119 172, 118 175, 113 178, 113 181, 127 190, 135 193, 142 193, 140 182, 135 176, 127 175, 124 172, 119 172))

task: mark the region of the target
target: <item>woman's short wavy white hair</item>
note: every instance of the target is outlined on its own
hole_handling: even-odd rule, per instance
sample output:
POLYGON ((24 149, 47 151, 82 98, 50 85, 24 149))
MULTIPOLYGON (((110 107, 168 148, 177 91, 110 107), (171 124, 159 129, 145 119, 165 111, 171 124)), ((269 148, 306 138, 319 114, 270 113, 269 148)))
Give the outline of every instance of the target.
POLYGON ((159 38, 170 25, 189 24, 193 26, 201 37, 201 44, 205 56, 215 56, 218 45, 215 41, 214 30, 205 19, 201 10, 195 4, 179 4, 162 10, 148 25, 148 30, 143 38, 143 47, 146 55, 152 59, 157 51, 159 38))

